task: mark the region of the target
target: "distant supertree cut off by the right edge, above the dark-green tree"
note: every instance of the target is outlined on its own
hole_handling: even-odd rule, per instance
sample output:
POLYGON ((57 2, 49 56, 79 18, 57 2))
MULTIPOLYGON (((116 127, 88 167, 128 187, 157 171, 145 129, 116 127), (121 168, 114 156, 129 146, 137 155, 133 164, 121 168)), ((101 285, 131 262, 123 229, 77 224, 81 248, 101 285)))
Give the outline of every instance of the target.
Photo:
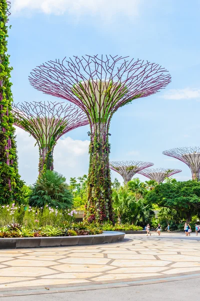
POLYGON ((192 180, 199 181, 200 147, 178 147, 164 150, 163 155, 176 158, 184 162, 191 171, 192 180))

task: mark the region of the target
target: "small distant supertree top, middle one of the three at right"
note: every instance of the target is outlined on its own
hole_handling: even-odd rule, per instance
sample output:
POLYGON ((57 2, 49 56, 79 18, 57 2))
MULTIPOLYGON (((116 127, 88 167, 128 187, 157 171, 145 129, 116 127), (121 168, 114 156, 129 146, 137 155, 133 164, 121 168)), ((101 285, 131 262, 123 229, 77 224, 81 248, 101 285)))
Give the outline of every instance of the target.
POLYGON ((156 181, 158 184, 162 183, 165 178, 171 177, 174 174, 180 173, 181 170, 178 169, 167 169, 167 168, 155 168, 155 169, 145 169, 138 172, 138 174, 156 181))

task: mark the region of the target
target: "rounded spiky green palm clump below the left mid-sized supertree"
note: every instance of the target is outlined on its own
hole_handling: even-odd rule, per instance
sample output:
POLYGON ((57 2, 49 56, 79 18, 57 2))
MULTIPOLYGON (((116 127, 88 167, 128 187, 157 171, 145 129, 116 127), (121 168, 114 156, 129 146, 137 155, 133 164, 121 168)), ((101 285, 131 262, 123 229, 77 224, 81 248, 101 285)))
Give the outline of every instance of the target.
POLYGON ((53 208, 71 208, 73 196, 65 180, 55 171, 47 170, 42 173, 32 186, 29 204, 37 207, 49 204, 53 208))

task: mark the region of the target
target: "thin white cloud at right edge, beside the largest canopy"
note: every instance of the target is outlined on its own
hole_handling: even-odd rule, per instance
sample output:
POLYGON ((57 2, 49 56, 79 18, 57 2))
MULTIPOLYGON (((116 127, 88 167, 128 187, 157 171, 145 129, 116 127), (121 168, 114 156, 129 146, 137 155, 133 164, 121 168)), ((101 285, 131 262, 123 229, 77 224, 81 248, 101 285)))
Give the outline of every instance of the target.
POLYGON ((162 98, 164 99, 191 99, 200 98, 200 89, 184 88, 184 89, 171 89, 165 93, 162 98))

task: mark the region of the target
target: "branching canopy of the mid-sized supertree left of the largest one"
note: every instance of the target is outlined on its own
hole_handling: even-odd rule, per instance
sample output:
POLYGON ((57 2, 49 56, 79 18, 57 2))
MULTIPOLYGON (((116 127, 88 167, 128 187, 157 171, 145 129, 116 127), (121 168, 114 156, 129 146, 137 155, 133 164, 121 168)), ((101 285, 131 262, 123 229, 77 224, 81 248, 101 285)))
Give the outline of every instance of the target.
POLYGON ((88 118, 81 109, 63 102, 17 103, 12 105, 12 114, 14 124, 30 132, 36 140, 42 136, 50 138, 52 134, 56 135, 56 130, 63 126, 62 132, 58 131, 56 135, 57 141, 70 130, 88 124, 88 118))

